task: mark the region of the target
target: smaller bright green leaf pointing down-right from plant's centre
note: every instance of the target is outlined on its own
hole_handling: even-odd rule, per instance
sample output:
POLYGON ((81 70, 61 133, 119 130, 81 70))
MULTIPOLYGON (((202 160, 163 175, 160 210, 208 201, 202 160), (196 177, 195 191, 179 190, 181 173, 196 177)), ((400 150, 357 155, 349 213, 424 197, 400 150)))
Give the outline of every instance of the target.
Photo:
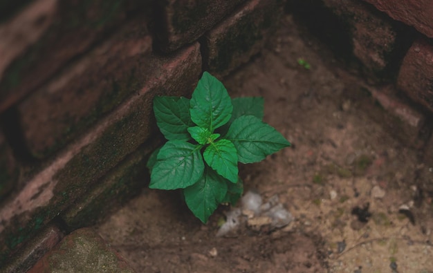
POLYGON ((211 143, 204 151, 205 162, 224 178, 237 182, 237 151, 230 140, 211 143))

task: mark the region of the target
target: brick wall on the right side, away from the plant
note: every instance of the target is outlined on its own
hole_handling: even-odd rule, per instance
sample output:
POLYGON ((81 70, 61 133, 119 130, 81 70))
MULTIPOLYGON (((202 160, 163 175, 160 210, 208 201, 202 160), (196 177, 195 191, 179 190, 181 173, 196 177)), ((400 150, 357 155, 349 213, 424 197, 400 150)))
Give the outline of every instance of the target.
POLYGON ((286 10, 365 78, 384 126, 433 165, 431 1, 289 0, 286 10))

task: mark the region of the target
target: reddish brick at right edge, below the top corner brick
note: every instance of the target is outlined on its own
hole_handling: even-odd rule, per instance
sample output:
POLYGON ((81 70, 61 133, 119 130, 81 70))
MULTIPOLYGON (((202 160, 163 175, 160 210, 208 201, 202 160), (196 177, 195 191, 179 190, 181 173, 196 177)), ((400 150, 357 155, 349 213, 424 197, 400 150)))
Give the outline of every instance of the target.
POLYGON ((433 46, 424 39, 412 44, 398 73, 397 86, 433 111, 433 46))

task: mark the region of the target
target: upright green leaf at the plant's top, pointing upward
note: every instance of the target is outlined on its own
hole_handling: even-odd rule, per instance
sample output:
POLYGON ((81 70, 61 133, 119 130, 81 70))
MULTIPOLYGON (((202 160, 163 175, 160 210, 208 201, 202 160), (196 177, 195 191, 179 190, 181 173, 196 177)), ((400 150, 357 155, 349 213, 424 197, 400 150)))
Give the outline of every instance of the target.
POLYGON ((203 73, 192 93, 190 114, 192 121, 213 133, 232 115, 232 102, 225 87, 208 72, 203 73))

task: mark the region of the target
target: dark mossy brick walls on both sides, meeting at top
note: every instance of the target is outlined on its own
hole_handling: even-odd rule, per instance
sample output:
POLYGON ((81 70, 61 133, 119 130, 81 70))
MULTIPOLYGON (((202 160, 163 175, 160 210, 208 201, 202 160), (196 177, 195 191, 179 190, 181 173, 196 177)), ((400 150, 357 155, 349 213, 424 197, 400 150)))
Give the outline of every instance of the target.
POLYGON ((161 142, 153 97, 188 96, 203 70, 222 77, 248 62, 284 7, 365 75, 433 165, 429 1, 3 1, 0 268, 26 271, 145 187, 161 142))

